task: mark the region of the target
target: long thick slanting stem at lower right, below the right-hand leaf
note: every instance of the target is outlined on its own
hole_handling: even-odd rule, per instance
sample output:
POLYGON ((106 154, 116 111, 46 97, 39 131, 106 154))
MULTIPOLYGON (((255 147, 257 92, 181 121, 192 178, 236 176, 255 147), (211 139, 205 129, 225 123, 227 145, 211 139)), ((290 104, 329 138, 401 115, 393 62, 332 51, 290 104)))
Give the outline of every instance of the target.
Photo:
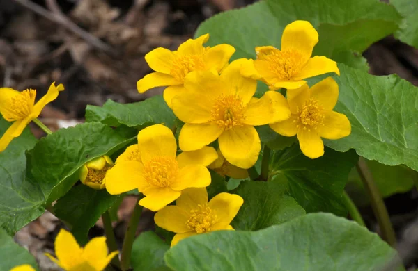
POLYGON ((382 231, 382 239, 392 247, 396 247, 396 236, 389 219, 389 214, 387 213, 385 202, 383 202, 378 186, 376 186, 376 183, 373 181, 373 175, 371 174, 366 161, 362 157, 359 158, 359 162, 357 163, 357 171, 359 172, 360 179, 362 179, 364 188, 366 188, 366 192, 369 195, 371 208, 373 208, 373 213, 378 220, 380 231, 382 231))

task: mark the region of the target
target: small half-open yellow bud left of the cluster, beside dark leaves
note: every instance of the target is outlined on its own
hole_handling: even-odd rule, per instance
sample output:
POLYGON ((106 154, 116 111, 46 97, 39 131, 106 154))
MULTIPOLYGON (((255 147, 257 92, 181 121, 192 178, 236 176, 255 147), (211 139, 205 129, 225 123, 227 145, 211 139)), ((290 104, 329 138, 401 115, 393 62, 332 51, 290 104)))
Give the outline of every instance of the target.
POLYGON ((83 165, 80 172, 80 181, 94 189, 103 189, 106 186, 106 172, 114 166, 107 155, 100 156, 83 165))

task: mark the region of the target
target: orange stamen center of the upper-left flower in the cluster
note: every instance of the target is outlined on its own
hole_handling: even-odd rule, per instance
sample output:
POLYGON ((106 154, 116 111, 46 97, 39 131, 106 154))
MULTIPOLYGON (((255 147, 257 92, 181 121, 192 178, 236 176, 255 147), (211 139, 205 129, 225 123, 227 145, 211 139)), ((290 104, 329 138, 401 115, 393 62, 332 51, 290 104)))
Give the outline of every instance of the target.
POLYGON ((189 72, 203 71, 205 67, 206 65, 203 61, 203 54, 180 56, 174 60, 170 74, 177 81, 183 82, 185 76, 189 74, 189 72))

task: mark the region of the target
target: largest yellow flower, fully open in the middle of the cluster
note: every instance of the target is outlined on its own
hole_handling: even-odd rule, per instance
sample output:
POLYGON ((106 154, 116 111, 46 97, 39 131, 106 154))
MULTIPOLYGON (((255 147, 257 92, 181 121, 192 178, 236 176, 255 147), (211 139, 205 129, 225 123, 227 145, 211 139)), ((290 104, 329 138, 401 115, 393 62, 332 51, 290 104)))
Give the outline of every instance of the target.
POLYGON ((187 91, 172 100, 174 114, 185 122, 180 149, 194 151, 219 138, 219 149, 229 163, 245 169, 256 163, 261 144, 254 126, 286 120, 291 112, 279 92, 253 97, 257 82, 240 74, 247 61, 233 61, 220 76, 212 72, 186 76, 187 91))

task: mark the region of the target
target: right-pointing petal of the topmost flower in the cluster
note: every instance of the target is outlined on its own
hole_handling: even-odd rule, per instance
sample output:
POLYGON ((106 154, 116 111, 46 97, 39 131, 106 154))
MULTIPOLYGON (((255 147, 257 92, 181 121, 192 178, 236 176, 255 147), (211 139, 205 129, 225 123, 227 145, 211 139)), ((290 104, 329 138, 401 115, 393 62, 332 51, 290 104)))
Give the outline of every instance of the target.
POLYGON ((325 56, 314 56, 313 58, 309 58, 302 70, 293 76, 293 80, 302 80, 320 74, 327 74, 328 72, 335 72, 339 75, 336 62, 325 56))

